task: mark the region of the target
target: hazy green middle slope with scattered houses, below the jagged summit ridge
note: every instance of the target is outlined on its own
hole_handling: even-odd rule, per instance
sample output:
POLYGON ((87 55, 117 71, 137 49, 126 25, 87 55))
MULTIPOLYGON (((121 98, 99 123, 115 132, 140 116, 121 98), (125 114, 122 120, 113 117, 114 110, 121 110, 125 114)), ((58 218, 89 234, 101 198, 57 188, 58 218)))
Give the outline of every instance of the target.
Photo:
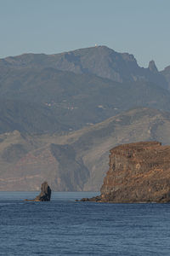
MULTIPOLYGON (((26 68, 3 74, 0 91, 3 109, 6 106, 3 104, 4 99, 15 101, 15 105, 18 102, 17 108, 20 108, 20 102, 35 106, 32 119, 37 120, 42 115, 40 112, 47 115, 51 120, 51 129, 50 125, 47 129, 47 125, 38 123, 41 124, 41 130, 50 132, 55 128, 52 119, 54 124, 57 120, 61 126, 67 126, 67 130, 77 130, 84 125, 99 123, 129 108, 148 107, 170 111, 170 92, 157 84, 118 83, 92 74, 63 72, 54 68, 26 68)), ((23 120, 26 119, 24 109, 26 110, 20 110, 23 120)), ((15 114, 16 112, 13 113, 14 119, 18 122, 15 114)), ((45 120, 45 117, 42 119, 45 120)), ((17 127, 14 129, 23 131, 17 127)), ((36 131, 39 132, 38 127, 36 131)))

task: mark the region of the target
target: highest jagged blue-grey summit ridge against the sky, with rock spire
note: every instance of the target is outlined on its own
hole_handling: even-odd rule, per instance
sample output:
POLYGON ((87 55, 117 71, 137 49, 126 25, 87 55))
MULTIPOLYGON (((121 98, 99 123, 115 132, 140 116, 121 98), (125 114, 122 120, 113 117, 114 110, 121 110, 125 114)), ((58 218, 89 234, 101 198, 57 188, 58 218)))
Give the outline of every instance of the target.
MULTIPOLYGON (((151 63, 151 62, 150 62, 151 63)), ((167 80, 153 68, 139 67, 133 55, 106 46, 89 47, 54 55, 24 54, 0 60, 0 67, 54 67, 73 73, 91 73, 116 82, 150 81, 167 88, 167 80)))

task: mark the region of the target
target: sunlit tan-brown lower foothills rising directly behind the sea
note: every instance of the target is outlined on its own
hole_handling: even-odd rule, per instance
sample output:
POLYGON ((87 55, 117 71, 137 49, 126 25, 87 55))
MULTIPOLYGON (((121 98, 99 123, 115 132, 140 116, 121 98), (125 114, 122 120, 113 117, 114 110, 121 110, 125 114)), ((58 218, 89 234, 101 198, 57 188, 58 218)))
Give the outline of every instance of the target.
POLYGON ((99 190, 109 150, 118 144, 170 143, 170 115, 137 108, 65 136, 0 136, 0 189, 34 190, 48 179, 52 189, 99 190))

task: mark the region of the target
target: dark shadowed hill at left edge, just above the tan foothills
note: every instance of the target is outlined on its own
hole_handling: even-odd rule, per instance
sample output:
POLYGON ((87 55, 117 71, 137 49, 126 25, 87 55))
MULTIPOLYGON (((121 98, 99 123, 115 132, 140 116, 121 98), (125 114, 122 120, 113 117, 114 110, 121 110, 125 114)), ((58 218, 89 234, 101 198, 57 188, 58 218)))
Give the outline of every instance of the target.
POLYGON ((0 133, 18 130, 25 133, 68 131, 45 106, 20 100, 0 99, 0 133))

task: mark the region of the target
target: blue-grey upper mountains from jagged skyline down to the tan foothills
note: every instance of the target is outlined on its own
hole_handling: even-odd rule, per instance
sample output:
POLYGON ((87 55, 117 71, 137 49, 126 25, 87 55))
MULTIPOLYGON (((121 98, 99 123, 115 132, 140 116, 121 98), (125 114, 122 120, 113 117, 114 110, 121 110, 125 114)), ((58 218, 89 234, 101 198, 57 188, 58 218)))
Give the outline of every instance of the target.
POLYGON ((139 67, 133 55, 105 46, 8 57, 0 60, 0 132, 77 130, 136 107, 170 111, 167 87, 154 61, 139 67), (38 116, 43 121, 31 125, 38 116))

